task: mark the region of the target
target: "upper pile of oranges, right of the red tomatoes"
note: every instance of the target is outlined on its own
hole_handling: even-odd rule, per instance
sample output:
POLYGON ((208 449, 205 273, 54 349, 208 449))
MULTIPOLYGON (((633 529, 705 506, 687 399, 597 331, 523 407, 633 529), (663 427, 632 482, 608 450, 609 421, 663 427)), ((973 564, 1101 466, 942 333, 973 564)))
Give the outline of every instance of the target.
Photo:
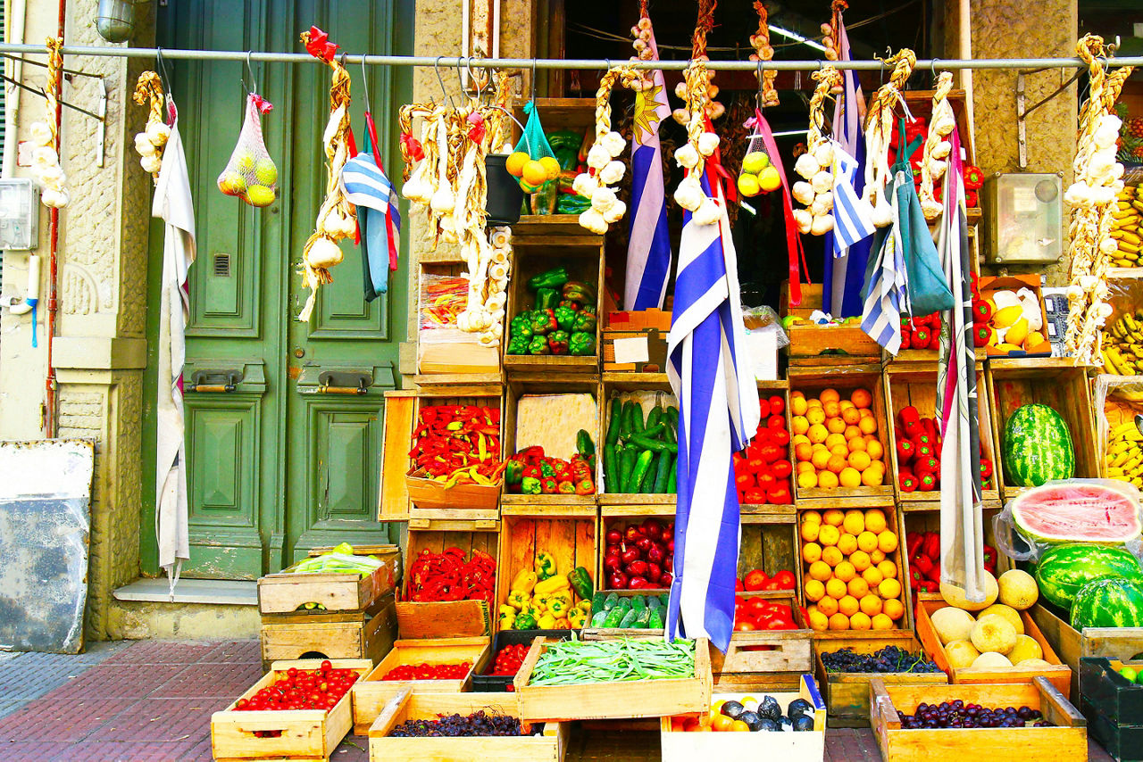
POLYGON ((855 388, 842 400, 834 388, 816 399, 790 394, 798 487, 880 487, 885 482, 885 448, 869 390, 855 388))

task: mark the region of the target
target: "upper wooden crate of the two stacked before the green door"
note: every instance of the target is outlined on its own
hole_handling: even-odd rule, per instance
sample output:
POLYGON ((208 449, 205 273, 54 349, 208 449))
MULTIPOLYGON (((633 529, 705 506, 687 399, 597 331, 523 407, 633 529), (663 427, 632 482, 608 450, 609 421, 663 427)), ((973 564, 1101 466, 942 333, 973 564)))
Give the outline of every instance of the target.
POLYGON ((373 573, 294 573, 294 567, 258 579, 258 611, 293 613, 306 603, 320 603, 326 612, 366 611, 397 588, 401 578, 401 552, 379 553, 382 566, 373 573))

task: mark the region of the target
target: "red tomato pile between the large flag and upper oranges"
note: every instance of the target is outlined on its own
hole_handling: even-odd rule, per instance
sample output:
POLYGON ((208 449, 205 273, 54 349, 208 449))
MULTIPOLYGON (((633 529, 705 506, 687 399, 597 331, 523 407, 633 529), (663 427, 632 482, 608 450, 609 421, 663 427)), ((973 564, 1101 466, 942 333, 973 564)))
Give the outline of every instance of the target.
POLYGON ((738 503, 762 505, 793 503, 790 497, 790 431, 785 425, 785 400, 759 400, 762 418, 754 439, 734 454, 734 482, 738 503))

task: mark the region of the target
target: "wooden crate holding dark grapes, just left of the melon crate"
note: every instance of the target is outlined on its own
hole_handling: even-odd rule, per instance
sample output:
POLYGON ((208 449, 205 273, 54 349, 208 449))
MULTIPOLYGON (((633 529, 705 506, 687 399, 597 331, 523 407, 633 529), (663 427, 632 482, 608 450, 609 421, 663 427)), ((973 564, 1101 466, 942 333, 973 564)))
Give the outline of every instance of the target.
POLYGON ((865 728, 869 727, 870 682, 874 679, 890 685, 943 685, 948 684, 949 675, 943 672, 895 672, 895 673, 860 673, 826 672, 822 653, 832 653, 842 648, 852 648, 856 653, 873 653, 886 645, 900 645, 910 653, 917 653, 921 645, 913 633, 904 629, 893 629, 878 633, 878 637, 830 637, 814 640, 814 669, 817 684, 825 693, 825 704, 830 707, 831 728, 865 728))

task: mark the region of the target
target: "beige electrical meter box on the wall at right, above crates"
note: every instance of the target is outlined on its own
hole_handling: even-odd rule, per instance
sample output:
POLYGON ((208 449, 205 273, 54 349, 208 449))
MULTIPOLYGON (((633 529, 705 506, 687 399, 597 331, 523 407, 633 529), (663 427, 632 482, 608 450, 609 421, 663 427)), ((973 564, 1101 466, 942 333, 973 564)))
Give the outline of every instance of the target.
POLYGON ((993 264, 1044 264, 1063 257, 1063 181, 1060 175, 994 175, 981 189, 985 216, 984 259, 993 264))

